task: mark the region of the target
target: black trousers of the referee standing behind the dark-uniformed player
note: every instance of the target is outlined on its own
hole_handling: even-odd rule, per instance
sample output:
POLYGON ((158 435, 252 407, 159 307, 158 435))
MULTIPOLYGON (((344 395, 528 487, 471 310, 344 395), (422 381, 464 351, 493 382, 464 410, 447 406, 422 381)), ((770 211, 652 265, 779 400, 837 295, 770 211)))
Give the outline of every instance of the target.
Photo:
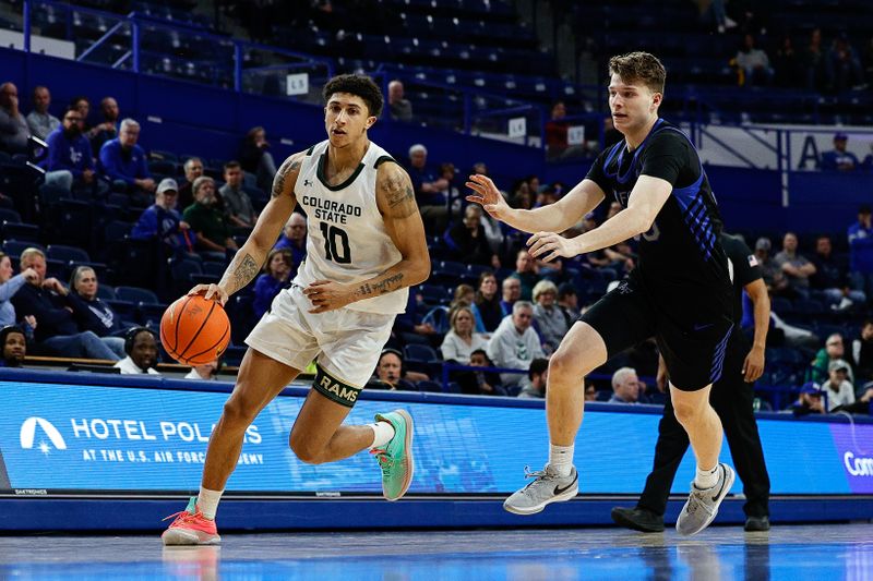
MULTIPOLYGON (((723 373, 721 379, 713 385, 709 402, 721 419, 733 465, 743 481, 746 498, 743 510, 746 517, 765 517, 769 516, 770 479, 752 409, 754 391, 752 384, 746 384, 741 373, 748 354, 749 341, 739 327, 734 327, 725 354, 723 373)), ((661 516, 667 511, 667 497, 689 445, 689 436, 675 419, 668 392, 663 416, 658 424, 655 465, 636 504, 638 508, 661 516)))

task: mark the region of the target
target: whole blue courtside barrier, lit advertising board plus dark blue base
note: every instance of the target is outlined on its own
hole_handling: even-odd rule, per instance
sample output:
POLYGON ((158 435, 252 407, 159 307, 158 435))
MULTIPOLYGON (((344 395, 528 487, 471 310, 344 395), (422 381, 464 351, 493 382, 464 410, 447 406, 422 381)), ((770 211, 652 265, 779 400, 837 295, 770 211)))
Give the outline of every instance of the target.
MULTIPOLYGON (((3 370, 0 373, 0 530, 156 530, 200 485, 225 383, 3 370), (108 504, 109 509, 104 509, 108 504), (135 519, 131 518, 135 515, 135 519)), ((504 512, 524 465, 546 461, 541 401, 364 392, 349 422, 396 407, 416 419, 416 479, 385 503, 380 472, 360 453, 309 465, 287 445, 307 390, 289 387, 247 432, 227 485, 229 529, 357 529, 602 524, 627 504, 651 465, 660 410, 593 403, 576 443, 581 496, 534 518, 504 512)), ((873 517, 873 422, 761 414, 774 520, 873 517)), ((722 458, 730 462, 727 446, 722 458)), ((686 455, 672 493, 693 477, 686 455)), ((741 520, 738 481, 721 522, 741 520)), ((680 500, 670 505, 673 518, 680 500)))

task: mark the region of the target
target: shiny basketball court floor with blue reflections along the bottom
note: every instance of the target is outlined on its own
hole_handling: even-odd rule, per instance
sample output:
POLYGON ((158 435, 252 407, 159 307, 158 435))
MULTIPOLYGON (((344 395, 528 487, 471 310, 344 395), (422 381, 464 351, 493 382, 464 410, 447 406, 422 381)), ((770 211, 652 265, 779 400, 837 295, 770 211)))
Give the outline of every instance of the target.
POLYGON ((873 579, 873 524, 226 534, 220 547, 147 536, 3 536, 0 579, 873 579))

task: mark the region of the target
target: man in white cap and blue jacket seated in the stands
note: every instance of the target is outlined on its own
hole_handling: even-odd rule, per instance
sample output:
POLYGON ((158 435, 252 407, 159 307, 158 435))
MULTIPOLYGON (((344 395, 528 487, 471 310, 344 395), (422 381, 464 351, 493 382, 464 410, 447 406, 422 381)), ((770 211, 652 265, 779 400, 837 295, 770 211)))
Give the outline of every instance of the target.
POLYGON ((194 252, 188 222, 182 221, 176 209, 178 189, 172 178, 160 180, 155 191, 155 203, 143 210, 130 234, 133 240, 160 241, 165 258, 194 252))

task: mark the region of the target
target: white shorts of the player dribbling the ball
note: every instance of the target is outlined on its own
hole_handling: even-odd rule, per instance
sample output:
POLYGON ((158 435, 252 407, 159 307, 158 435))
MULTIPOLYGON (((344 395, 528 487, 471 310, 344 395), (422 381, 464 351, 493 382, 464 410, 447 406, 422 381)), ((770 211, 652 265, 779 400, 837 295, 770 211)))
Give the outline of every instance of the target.
POLYGON ((363 387, 373 375, 396 315, 337 308, 313 314, 300 287, 283 289, 246 344, 297 370, 318 358, 335 378, 363 387))

